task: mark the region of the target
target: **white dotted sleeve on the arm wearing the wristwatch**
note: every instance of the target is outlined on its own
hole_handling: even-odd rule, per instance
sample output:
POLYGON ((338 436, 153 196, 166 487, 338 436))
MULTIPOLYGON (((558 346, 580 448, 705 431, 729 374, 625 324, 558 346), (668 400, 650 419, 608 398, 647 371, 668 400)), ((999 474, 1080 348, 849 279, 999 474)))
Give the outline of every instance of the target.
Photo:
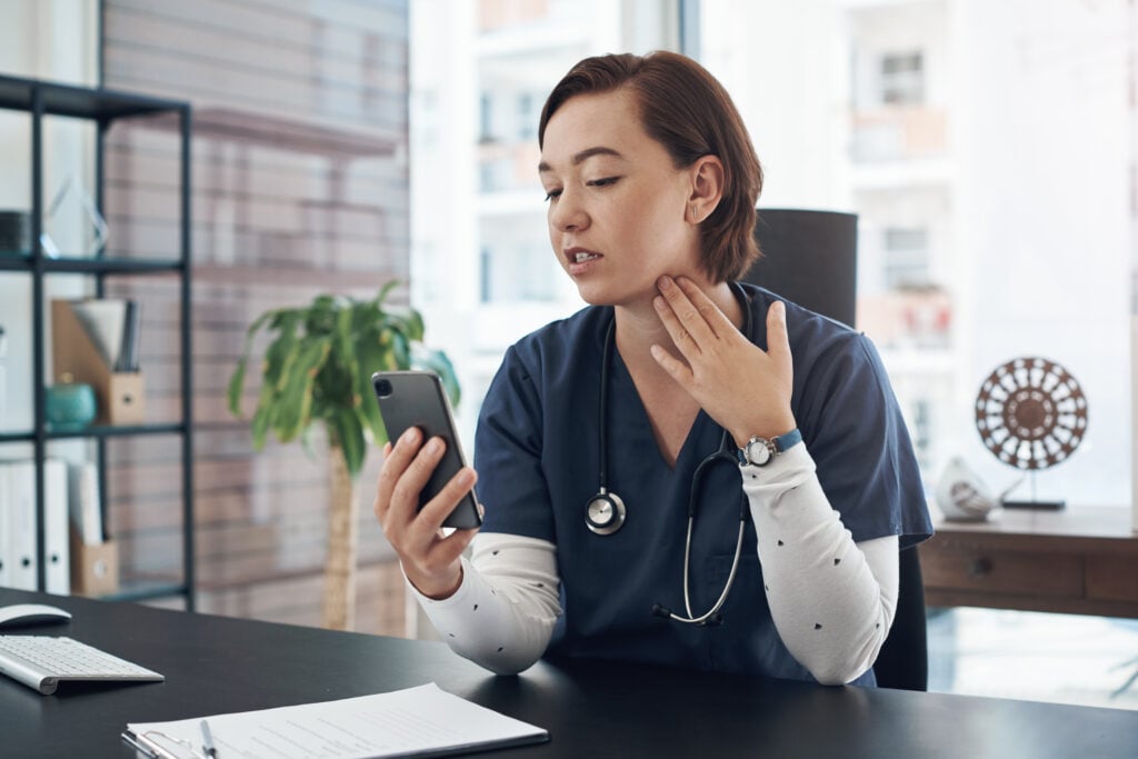
POLYGON ((856 679, 873 666, 893 621, 897 536, 855 543, 805 445, 741 471, 778 635, 819 683, 856 679))

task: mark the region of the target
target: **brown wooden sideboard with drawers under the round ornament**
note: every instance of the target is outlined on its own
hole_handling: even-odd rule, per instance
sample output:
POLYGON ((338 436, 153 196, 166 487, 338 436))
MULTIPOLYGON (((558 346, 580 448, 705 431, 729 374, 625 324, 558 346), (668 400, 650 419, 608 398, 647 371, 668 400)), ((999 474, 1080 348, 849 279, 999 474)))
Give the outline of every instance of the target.
POLYGON ((1138 534, 1129 509, 1005 509, 983 522, 939 519, 921 545, 930 607, 1138 618, 1138 534))

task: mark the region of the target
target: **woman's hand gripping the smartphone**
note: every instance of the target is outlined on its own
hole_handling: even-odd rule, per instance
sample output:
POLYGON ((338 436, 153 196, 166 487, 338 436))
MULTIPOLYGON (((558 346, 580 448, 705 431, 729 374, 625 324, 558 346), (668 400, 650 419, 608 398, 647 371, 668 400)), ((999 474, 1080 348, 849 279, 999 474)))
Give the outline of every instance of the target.
POLYGON ((374 512, 411 584, 431 599, 445 599, 462 584, 462 552, 477 528, 443 531, 443 522, 473 489, 470 467, 460 469, 420 509, 420 493, 446 452, 442 437, 423 440, 417 427, 393 446, 384 446, 384 467, 376 489, 374 512))

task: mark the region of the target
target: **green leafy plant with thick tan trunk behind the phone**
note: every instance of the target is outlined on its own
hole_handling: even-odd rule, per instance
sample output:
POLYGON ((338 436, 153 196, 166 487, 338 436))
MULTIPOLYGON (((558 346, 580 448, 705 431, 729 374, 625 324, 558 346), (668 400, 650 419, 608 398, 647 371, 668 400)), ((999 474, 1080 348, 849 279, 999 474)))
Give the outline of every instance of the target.
POLYGON ((388 282, 368 300, 320 295, 306 306, 261 314, 246 332, 244 353, 229 381, 229 410, 242 416, 246 370, 255 338, 264 329, 273 337, 261 363, 261 393, 250 420, 253 447, 264 448, 271 432, 282 443, 299 438, 312 454, 311 436, 318 424, 328 432, 331 503, 323 619, 331 629, 349 629, 354 617, 356 477, 369 444, 387 442, 372 372, 431 370, 442 378, 451 402, 459 402, 450 360, 422 344, 419 312, 385 307, 396 284, 388 282))

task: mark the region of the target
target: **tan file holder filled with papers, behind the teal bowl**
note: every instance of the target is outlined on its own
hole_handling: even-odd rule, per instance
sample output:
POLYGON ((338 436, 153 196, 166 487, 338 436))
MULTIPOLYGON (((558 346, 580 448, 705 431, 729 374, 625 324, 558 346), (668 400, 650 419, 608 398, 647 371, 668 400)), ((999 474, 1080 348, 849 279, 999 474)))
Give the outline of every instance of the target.
POLYGON ((142 374, 137 371, 138 312, 127 314, 126 311, 126 303, 122 300, 51 302, 55 381, 92 386, 99 404, 96 421, 100 424, 141 424, 146 420, 146 388, 142 374), (117 305, 110 310, 92 307, 108 303, 117 305), (105 311, 122 311, 122 316, 100 320, 105 311), (124 343, 129 344, 125 350, 124 343), (133 363, 134 371, 116 371, 116 364, 123 365, 119 358, 124 356, 126 362, 133 363))

